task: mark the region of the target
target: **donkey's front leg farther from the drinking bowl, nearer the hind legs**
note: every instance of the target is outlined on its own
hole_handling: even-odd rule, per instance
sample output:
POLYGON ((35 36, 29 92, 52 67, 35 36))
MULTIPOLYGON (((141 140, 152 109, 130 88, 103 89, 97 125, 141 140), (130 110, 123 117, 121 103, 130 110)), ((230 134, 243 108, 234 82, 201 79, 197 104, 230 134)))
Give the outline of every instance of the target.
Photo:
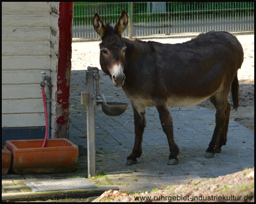
POLYGON ((169 113, 168 106, 167 104, 157 104, 156 109, 158 109, 161 125, 164 133, 166 133, 170 148, 168 165, 177 164, 177 155, 179 154, 179 147, 174 142, 174 129, 172 125, 172 117, 169 113))

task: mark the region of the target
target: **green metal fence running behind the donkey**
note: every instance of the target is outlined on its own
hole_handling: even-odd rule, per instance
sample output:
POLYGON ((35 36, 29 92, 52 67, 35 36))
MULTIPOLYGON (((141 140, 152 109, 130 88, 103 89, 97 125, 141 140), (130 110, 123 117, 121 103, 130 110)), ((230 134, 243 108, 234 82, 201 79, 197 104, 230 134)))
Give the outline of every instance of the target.
POLYGON ((94 14, 114 25, 122 8, 129 15, 124 37, 254 31, 254 1, 74 2, 73 39, 100 40, 92 24, 94 14))

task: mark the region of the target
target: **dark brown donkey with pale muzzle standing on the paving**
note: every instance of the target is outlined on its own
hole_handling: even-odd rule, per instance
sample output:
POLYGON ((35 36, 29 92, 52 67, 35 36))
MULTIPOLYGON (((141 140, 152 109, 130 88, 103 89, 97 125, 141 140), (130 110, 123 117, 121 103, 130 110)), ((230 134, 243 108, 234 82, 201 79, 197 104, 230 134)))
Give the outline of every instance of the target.
POLYGON ((170 156, 168 165, 177 164, 179 148, 174 142, 172 117, 168 107, 197 105, 210 99, 216 108, 216 126, 205 157, 212 158, 226 145, 231 89, 233 109, 238 108, 237 70, 243 62, 243 49, 228 32, 210 31, 182 44, 129 40, 122 37, 128 16, 122 10, 113 28, 96 13, 95 31, 100 35, 100 65, 115 87, 122 87, 134 111, 135 143, 126 165, 137 163, 142 154, 146 107, 155 106, 170 156))

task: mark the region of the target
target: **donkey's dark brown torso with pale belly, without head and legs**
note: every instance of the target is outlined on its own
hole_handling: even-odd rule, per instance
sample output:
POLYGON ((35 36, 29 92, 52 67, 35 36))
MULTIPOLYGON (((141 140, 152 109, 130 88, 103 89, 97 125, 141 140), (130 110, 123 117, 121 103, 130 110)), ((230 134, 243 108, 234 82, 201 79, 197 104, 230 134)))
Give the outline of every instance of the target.
POLYGON ((172 107, 199 104, 223 86, 230 88, 243 62, 242 46, 228 32, 200 34, 183 44, 124 41, 134 49, 127 53, 123 89, 130 98, 147 99, 148 106, 155 105, 156 97, 172 107), (137 74, 129 78, 130 70, 137 74))

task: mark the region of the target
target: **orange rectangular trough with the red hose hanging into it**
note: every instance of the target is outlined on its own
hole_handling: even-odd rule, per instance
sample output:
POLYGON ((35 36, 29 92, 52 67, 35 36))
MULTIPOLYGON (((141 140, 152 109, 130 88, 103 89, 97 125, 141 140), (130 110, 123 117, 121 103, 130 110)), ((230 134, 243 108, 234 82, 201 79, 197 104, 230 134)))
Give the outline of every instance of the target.
POLYGON ((6 141, 13 154, 11 169, 15 173, 59 173, 75 170, 78 160, 78 147, 65 138, 23 139, 6 141))

